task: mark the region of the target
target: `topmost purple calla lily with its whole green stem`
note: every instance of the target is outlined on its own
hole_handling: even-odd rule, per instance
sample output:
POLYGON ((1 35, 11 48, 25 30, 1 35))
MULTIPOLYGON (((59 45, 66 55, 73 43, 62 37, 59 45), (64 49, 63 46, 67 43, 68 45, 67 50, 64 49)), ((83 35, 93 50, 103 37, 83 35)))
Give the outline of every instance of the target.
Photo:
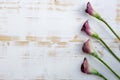
POLYGON ((111 28, 111 26, 93 9, 92 5, 90 2, 87 3, 87 8, 85 10, 86 13, 89 15, 97 18, 98 20, 102 21, 107 25, 107 27, 113 32, 113 34, 120 40, 120 37, 117 35, 117 33, 111 28))

